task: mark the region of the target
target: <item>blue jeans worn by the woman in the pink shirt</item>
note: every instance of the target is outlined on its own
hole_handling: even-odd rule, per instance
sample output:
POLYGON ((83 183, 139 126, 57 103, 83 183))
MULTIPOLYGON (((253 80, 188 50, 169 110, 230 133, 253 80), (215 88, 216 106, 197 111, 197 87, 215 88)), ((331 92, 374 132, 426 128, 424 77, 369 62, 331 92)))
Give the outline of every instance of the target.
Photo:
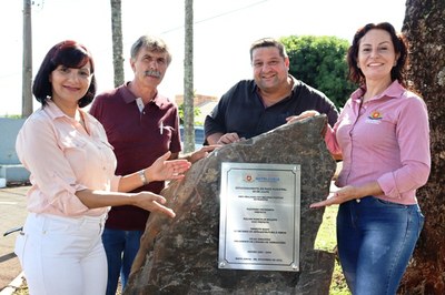
POLYGON ((366 196, 339 206, 338 255, 353 294, 396 294, 424 224, 419 206, 366 196))

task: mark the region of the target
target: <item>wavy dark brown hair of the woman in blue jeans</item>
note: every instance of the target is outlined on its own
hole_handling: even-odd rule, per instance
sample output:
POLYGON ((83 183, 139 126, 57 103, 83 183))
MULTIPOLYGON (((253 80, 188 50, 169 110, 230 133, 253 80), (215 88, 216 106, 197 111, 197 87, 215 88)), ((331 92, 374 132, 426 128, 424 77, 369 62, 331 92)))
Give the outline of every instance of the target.
POLYGON ((399 55, 396 65, 390 70, 390 80, 397 80, 403 87, 406 88, 405 75, 406 67, 408 64, 408 42, 402 33, 396 32, 393 24, 389 22, 368 23, 357 30, 354 35, 353 44, 349 47, 346 57, 349 67, 349 80, 357 84, 365 83, 365 75, 357 65, 358 48, 362 38, 373 29, 384 30, 389 33, 394 44, 394 50, 396 54, 399 55))

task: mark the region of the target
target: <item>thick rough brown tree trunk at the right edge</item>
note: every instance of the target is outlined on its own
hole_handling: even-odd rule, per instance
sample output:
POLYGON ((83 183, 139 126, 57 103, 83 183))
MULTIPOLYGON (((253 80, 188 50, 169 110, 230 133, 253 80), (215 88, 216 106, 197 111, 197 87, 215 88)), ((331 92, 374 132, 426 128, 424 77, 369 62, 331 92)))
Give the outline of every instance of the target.
POLYGON ((403 32, 412 52, 408 80, 428 106, 432 171, 428 183, 417 193, 425 225, 399 294, 445 294, 444 20, 444 0, 406 1, 403 32))

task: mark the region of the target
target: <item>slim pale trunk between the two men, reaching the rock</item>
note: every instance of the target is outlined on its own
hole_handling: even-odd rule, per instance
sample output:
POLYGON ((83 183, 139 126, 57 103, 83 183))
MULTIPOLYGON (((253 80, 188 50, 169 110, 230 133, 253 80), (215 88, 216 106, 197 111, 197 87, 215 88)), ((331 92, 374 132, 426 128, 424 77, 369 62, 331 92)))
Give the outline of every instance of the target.
POLYGON ((195 151, 194 113, 194 0, 186 0, 184 52, 184 152, 195 151))

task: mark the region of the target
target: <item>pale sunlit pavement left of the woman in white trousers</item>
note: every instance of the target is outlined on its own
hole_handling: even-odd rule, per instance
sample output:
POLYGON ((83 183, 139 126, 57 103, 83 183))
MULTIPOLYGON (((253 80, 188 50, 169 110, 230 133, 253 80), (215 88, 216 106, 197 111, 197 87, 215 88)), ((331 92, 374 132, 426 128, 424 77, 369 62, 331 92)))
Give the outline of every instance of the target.
POLYGON ((13 254, 18 233, 7 236, 3 233, 24 223, 28 190, 29 186, 0 189, 0 291, 21 273, 19 260, 13 254))

